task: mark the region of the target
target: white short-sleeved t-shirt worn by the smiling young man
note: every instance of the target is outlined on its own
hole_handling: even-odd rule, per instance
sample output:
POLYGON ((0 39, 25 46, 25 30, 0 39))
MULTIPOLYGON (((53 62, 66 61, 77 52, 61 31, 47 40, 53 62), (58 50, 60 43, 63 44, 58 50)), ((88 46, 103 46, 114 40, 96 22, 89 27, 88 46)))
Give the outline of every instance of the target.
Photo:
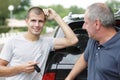
MULTIPOLYGON (((9 62, 8 66, 24 64, 28 61, 39 62, 41 73, 44 73, 48 54, 54 47, 54 38, 40 38, 38 41, 28 41, 23 35, 12 37, 4 45, 0 58, 9 62)), ((6 80, 42 80, 42 76, 36 71, 27 74, 20 73, 7 77, 6 80)))

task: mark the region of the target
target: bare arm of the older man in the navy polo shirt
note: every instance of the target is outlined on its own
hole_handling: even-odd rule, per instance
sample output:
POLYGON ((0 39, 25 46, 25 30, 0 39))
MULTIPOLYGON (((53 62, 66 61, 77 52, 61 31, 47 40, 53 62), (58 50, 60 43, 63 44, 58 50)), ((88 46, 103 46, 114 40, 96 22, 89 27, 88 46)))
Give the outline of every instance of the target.
POLYGON ((82 54, 65 80, 74 80, 75 77, 80 72, 82 72, 86 67, 87 67, 87 63, 84 59, 84 54, 82 54))

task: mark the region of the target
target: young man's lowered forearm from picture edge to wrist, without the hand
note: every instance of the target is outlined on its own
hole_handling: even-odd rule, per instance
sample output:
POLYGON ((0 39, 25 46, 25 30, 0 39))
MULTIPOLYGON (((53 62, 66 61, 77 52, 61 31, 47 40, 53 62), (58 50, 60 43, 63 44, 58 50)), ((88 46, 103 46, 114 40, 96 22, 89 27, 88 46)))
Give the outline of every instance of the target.
POLYGON ((17 66, 15 67, 0 66, 0 77, 14 76, 21 72, 22 70, 17 66))

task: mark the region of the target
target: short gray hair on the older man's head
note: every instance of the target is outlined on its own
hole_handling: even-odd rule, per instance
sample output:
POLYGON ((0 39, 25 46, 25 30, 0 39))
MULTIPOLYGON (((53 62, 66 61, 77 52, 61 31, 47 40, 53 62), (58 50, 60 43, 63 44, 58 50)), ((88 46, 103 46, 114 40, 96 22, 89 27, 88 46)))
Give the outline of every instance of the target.
POLYGON ((115 25, 114 13, 111 8, 104 3, 94 3, 87 8, 88 18, 91 21, 99 19, 103 26, 115 25))

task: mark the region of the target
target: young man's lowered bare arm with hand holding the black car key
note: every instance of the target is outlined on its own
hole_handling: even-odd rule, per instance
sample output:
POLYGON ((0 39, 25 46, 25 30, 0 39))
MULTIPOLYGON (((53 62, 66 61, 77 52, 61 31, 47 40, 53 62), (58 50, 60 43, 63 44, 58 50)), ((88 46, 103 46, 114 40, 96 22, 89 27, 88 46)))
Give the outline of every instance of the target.
POLYGON ((32 73, 34 72, 34 65, 36 62, 28 62, 18 66, 8 67, 8 61, 0 59, 0 77, 8 77, 19 74, 21 72, 32 73))

